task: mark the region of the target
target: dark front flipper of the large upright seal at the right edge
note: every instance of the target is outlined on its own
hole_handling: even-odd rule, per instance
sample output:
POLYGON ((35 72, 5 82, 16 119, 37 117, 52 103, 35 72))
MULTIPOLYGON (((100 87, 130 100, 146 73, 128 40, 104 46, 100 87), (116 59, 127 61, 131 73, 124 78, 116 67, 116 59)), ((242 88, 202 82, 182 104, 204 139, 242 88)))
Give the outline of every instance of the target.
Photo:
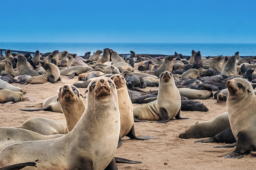
POLYGON ((236 144, 236 149, 234 152, 228 154, 225 156, 225 158, 242 158, 243 156, 247 156, 250 151, 253 151, 253 145, 251 144, 252 139, 247 135, 246 132, 240 131, 237 134, 237 144, 236 144))

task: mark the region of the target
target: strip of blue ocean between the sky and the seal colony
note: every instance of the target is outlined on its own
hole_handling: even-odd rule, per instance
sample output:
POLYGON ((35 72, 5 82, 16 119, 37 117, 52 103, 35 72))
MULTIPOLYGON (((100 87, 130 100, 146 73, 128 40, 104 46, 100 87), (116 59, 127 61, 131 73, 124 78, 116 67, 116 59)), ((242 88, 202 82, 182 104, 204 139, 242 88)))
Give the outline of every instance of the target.
POLYGON ((191 51, 201 51, 202 56, 232 56, 239 51, 240 56, 256 56, 256 44, 235 43, 90 43, 90 42, 0 42, 0 49, 29 51, 40 53, 68 51, 83 56, 85 52, 93 52, 110 48, 118 54, 163 54, 174 55, 175 51, 190 56, 191 51))

